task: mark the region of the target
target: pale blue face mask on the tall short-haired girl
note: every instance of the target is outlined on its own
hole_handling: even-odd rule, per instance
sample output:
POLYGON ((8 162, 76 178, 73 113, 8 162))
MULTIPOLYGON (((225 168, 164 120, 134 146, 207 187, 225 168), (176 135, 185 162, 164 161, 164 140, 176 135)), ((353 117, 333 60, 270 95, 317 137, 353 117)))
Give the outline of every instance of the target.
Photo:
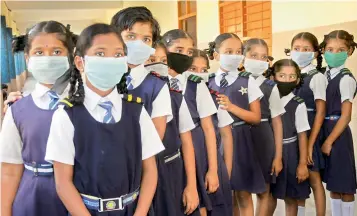
POLYGON ((142 40, 127 41, 125 44, 128 48, 129 64, 144 64, 150 58, 150 55, 155 54, 155 49, 145 44, 142 40))

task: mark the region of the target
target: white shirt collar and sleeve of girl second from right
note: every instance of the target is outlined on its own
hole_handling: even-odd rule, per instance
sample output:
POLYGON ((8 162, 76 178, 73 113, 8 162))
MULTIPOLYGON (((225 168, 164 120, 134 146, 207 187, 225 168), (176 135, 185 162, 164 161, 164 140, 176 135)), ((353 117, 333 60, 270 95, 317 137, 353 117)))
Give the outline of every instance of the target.
MULTIPOLYGON (((316 66, 310 64, 301 70, 301 73, 307 74, 312 70, 315 70, 316 66)), ((326 89, 327 89, 327 78, 322 73, 315 74, 310 81, 310 89, 314 93, 314 100, 326 101, 326 89)))

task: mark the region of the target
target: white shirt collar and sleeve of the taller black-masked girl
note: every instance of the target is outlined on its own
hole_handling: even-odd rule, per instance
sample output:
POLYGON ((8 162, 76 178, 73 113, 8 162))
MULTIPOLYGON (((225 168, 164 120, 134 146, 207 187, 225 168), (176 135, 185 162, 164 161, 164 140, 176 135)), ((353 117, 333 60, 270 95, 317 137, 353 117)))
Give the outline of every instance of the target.
MULTIPOLYGON (((178 79, 178 87, 179 90, 185 94, 186 86, 187 86, 187 79, 190 74, 184 72, 182 74, 178 74, 174 78, 178 79)), ((171 80, 173 77, 169 75, 169 79, 171 80)), ((197 102, 197 110, 200 118, 205 118, 207 116, 211 116, 217 113, 216 105, 212 99, 211 93, 209 92, 206 83, 201 82, 197 85, 197 95, 196 95, 196 102, 197 102)))

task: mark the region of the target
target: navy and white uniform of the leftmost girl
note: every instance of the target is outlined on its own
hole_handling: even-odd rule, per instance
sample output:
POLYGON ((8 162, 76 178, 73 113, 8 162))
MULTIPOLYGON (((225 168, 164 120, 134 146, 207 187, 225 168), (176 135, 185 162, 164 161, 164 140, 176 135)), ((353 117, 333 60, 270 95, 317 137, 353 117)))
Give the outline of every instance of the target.
POLYGON ((14 216, 67 215, 57 196, 52 164, 45 152, 56 95, 37 83, 33 92, 15 102, 6 112, 0 134, 0 160, 23 164, 24 172, 13 203, 14 216))

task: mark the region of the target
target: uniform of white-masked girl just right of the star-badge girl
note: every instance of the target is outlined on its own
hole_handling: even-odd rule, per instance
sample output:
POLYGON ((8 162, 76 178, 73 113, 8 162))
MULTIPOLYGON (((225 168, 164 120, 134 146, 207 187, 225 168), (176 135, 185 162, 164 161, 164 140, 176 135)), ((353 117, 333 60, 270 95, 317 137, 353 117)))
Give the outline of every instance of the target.
POLYGON ((259 125, 251 128, 254 149, 258 156, 260 167, 267 184, 274 183, 271 175, 272 163, 275 157, 275 138, 271 119, 285 113, 281 103, 280 93, 274 81, 264 76, 255 77, 264 97, 260 100, 261 120, 259 125))

